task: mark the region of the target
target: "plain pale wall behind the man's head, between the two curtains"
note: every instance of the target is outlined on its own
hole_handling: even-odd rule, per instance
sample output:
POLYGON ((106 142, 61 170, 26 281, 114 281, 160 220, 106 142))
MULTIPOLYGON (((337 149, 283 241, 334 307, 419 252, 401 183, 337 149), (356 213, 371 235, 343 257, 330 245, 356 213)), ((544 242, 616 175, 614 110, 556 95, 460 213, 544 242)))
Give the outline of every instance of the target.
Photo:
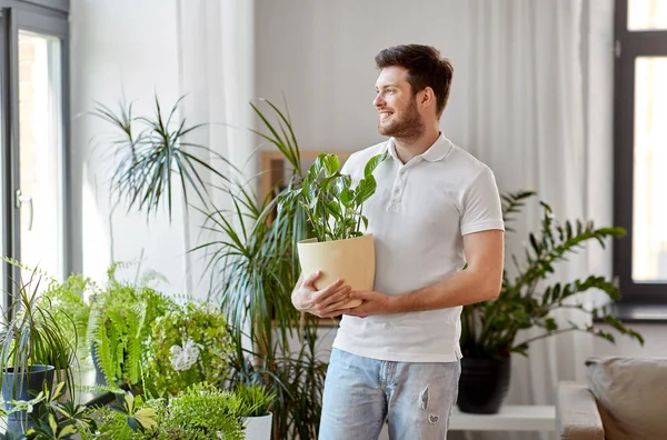
MULTIPOLYGON (((257 93, 287 99, 303 150, 359 150, 382 140, 371 104, 375 56, 406 42, 428 43, 450 59, 455 79, 441 126, 462 138, 466 6, 428 0, 419 7, 380 0, 258 0, 257 93)), ((449 2, 454 3, 454 2, 449 2)))

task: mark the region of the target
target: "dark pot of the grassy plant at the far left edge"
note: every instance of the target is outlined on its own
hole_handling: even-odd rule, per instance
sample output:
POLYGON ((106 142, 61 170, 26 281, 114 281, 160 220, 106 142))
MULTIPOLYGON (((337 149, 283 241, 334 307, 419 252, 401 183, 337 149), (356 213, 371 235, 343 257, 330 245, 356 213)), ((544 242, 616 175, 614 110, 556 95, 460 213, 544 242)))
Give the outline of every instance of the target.
MULTIPOLYGON (((4 400, 4 409, 11 410, 13 404, 11 400, 31 400, 37 393, 43 389, 44 382, 51 387, 53 384, 53 372, 56 368, 52 366, 30 366, 28 372, 14 373, 12 367, 2 372, 2 400, 4 400)), ((39 412, 38 403, 32 408, 34 413, 39 412)), ((31 428, 32 420, 26 411, 17 411, 7 417, 7 434, 6 439, 20 438, 24 428, 31 428)))

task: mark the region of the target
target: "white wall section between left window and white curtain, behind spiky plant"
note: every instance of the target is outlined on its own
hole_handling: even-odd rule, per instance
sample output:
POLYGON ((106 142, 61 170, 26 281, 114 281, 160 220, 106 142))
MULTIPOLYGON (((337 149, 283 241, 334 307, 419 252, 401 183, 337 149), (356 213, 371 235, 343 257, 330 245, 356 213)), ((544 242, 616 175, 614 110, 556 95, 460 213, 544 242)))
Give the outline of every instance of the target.
MULTIPOLYGON (((153 97, 166 106, 179 97, 176 2, 161 0, 71 1, 71 113, 73 184, 82 209, 82 269, 101 279, 111 259, 138 261, 143 269, 183 283, 181 204, 171 224, 165 216, 147 224, 145 214, 111 213, 107 187, 110 146, 107 123, 89 114, 94 101, 116 107, 125 97, 137 112, 153 112, 153 97), (110 221, 112 220, 112 221, 110 221), (112 254, 111 254, 112 244, 112 254)), ((180 193, 175 200, 180 201, 180 193)), ((127 273, 133 276, 132 273, 127 273)))

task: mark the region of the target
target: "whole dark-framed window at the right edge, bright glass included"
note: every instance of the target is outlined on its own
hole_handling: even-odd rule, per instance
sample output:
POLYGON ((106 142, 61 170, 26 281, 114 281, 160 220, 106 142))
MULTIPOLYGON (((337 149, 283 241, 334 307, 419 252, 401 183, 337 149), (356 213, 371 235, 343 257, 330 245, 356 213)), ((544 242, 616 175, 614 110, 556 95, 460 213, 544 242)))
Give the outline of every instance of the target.
POLYGON ((614 269, 649 318, 667 309, 667 1, 617 0, 615 88, 614 269))

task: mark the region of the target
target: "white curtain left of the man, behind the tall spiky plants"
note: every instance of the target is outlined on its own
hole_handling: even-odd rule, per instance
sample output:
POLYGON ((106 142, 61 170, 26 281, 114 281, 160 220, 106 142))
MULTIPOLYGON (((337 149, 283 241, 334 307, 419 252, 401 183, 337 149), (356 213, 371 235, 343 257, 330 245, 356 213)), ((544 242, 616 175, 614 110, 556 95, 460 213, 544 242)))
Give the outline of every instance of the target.
MULTIPOLYGON (((256 174, 249 161, 255 140, 252 111, 255 99, 255 2, 253 0, 177 0, 179 89, 186 96, 182 112, 190 123, 206 123, 188 141, 207 146, 227 158, 247 179, 256 174)), ((210 163, 221 173, 230 170, 212 156, 210 163)), ((216 186, 222 180, 207 176, 216 186)), ((215 191, 215 190, 213 190, 215 191)), ((196 194, 189 194, 196 201, 196 194)), ((215 191, 215 206, 229 209, 229 200, 215 191)), ((198 204, 199 206, 199 204, 198 204)), ((205 216, 189 210, 185 218, 185 248, 193 249, 210 236, 201 230, 205 216)), ((203 273, 202 252, 185 258, 188 294, 205 298, 209 280, 203 273)))

